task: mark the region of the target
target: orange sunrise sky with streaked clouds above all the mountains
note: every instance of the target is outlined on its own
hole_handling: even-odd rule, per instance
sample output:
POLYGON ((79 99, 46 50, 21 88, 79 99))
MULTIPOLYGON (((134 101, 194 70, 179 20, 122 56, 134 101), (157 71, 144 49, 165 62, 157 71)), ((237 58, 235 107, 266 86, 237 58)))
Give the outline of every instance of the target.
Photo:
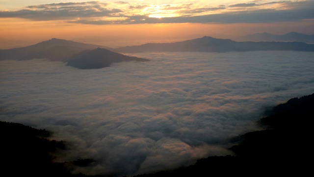
POLYGON ((53 37, 115 48, 291 31, 314 34, 314 0, 0 0, 2 49, 53 37))

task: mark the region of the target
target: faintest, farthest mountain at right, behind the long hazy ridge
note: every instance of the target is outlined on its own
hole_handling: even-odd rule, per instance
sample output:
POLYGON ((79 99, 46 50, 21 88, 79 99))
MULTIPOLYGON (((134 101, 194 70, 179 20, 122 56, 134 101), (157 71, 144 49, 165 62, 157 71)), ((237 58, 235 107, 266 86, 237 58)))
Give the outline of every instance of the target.
POLYGON ((271 33, 255 33, 244 35, 235 39, 236 41, 276 41, 276 42, 305 42, 314 44, 314 35, 307 35, 298 32, 289 32, 283 35, 276 35, 271 33))

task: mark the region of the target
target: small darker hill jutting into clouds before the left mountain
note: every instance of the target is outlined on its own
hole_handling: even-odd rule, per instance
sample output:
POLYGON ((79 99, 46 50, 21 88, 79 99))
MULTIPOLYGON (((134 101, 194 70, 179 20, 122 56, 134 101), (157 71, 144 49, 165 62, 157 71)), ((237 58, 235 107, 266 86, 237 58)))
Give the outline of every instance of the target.
POLYGON ((108 67, 115 62, 123 61, 149 61, 149 59, 129 57, 107 49, 97 48, 76 54, 68 59, 67 65, 80 69, 97 69, 108 67))

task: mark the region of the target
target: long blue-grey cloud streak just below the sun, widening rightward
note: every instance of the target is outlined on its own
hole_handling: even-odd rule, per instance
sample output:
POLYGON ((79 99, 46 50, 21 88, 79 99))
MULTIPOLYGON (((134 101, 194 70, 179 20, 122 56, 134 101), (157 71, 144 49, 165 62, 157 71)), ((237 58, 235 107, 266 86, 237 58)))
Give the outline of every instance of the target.
MULTIPOLYGON (((116 21, 118 24, 154 24, 154 23, 273 23, 273 22, 295 22, 306 19, 314 19, 314 11, 310 6, 306 6, 305 3, 293 3, 293 5, 300 5, 297 9, 261 9, 255 11, 232 11, 225 13, 217 13, 210 15, 196 15, 192 14, 203 13, 206 11, 223 10, 226 7, 214 7, 214 8, 200 8, 179 11, 186 14, 186 16, 179 17, 167 17, 167 18, 150 18, 148 15, 134 15, 128 16, 125 20, 116 21)), ((310 4, 308 4, 310 5, 310 4)), ((314 5, 314 4, 313 4, 314 5)), ((286 5, 287 6, 287 5, 286 5)), ((286 8, 286 7, 285 7, 286 8)), ((107 24, 107 21, 74 21, 74 23, 83 24, 107 24)))

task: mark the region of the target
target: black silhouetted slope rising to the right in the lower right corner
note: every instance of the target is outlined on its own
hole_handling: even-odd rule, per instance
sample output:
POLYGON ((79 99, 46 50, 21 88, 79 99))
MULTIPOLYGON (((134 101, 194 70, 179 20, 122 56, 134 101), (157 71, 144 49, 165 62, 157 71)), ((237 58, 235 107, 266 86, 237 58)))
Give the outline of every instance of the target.
POLYGON ((209 156, 188 167, 134 177, 306 176, 312 169, 313 107, 314 93, 291 98, 266 111, 268 116, 258 121, 266 129, 235 137, 239 142, 230 148, 235 155, 209 156))

